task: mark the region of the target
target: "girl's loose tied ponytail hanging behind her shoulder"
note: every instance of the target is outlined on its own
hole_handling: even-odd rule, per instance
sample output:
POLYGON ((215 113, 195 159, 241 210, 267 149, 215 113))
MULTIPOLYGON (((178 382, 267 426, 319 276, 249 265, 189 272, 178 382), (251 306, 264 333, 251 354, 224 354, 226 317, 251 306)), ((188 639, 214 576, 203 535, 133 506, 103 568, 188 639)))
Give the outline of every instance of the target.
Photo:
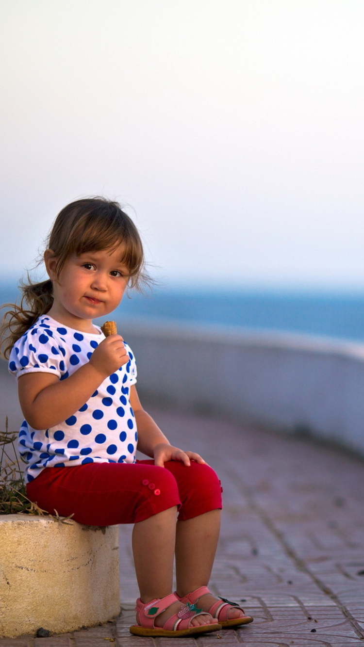
POLYGON ((21 284, 21 302, 4 303, 1 308, 9 307, 3 316, 0 331, 0 355, 8 359, 10 351, 17 340, 42 314, 46 314, 53 303, 52 281, 21 284))

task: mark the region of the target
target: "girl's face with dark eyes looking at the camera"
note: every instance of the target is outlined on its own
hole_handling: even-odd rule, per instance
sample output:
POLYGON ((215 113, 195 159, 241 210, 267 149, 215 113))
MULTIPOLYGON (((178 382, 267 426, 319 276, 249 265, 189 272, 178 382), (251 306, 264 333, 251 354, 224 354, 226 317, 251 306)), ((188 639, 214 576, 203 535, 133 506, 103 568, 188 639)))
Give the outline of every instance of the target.
POLYGON ((47 250, 45 265, 54 294, 47 314, 71 328, 94 333, 92 320, 115 310, 126 289, 128 268, 120 261, 122 251, 119 245, 113 251, 74 254, 65 261, 57 278, 56 259, 47 250))

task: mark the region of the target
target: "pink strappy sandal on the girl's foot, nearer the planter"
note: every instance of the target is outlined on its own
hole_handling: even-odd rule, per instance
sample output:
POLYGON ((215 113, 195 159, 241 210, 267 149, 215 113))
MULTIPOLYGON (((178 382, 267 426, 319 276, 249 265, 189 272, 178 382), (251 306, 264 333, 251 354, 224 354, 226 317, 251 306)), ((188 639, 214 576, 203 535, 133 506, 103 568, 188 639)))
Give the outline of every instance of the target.
POLYGON ((130 627, 130 633, 137 636, 177 638, 221 629, 221 624, 217 622, 215 624, 200 624, 196 627, 190 626, 192 618, 196 618, 196 615, 206 615, 206 611, 196 608, 196 604, 190 604, 190 602, 187 602, 177 613, 168 618, 163 627, 155 627, 154 620, 157 615, 163 613, 174 602, 180 601, 174 593, 170 593, 165 598, 155 598, 147 604, 143 604, 141 598, 138 598, 136 611, 139 624, 133 624, 130 627))

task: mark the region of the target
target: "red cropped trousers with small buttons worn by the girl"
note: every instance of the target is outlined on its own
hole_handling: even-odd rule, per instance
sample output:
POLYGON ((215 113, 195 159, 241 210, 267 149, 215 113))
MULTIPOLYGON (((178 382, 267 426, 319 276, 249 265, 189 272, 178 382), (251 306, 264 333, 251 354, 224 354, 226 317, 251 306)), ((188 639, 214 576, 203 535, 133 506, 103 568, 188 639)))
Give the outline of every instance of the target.
POLYGON ((222 488, 209 465, 153 460, 47 467, 27 485, 27 495, 43 510, 73 514, 85 525, 137 523, 174 505, 179 520, 222 508, 222 488))

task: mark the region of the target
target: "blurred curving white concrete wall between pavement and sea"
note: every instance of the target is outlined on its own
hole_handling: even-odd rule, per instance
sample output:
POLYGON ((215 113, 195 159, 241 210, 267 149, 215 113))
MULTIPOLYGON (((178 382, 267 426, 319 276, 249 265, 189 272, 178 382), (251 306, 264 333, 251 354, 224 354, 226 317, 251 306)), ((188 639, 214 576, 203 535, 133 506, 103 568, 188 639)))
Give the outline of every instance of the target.
POLYGON ((310 336, 120 322, 146 402, 307 431, 364 455, 364 346, 310 336))

